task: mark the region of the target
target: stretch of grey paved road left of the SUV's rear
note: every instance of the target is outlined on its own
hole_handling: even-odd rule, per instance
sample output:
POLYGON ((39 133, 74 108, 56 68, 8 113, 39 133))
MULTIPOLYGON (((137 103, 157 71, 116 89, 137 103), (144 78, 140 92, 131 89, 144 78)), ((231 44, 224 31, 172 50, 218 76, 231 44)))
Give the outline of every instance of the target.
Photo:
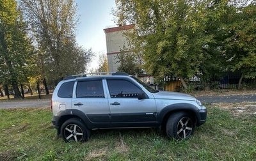
POLYGON ((21 100, 0 102, 0 109, 26 108, 26 107, 51 107, 50 99, 42 100, 21 100))

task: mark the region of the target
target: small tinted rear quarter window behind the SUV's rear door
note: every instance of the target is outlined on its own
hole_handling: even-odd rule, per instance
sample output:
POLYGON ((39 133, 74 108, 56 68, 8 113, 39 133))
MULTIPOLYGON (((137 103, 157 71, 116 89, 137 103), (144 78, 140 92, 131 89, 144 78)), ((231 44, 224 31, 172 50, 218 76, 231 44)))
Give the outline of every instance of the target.
POLYGON ((65 82, 65 83, 61 84, 60 89, 58 91, 58 97, 72 98, 73 87, 74 87, 74 81, 65 82))

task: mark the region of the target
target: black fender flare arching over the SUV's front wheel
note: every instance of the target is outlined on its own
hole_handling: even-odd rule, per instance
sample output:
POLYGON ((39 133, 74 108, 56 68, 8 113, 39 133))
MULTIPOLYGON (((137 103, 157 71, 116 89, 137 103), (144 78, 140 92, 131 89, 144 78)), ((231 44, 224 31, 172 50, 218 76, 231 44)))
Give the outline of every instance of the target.
POLYGON ((162 124, 164 121, 164 118, 166 117, 166 114, 170 114, 170 112, 175 112, 175 111, 191 111, 193 112, 193 114, 195 114, 196 121, 200 120, 199 109, 195 105, 188 104, 188 103, 178 103, 178 104, 167 105, 166 107, 164 107, 159 112, 157 121, 162 124))

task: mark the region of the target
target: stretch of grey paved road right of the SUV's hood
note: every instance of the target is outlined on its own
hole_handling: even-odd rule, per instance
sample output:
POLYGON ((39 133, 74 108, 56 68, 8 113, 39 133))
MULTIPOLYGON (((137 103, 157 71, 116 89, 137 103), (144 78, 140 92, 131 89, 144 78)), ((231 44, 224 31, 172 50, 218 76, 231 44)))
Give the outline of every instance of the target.
POLYGON ((235 103, 235 102, 256 102, 256 95, 227 95, 227 96, 198 96, 203 103, 235 103))

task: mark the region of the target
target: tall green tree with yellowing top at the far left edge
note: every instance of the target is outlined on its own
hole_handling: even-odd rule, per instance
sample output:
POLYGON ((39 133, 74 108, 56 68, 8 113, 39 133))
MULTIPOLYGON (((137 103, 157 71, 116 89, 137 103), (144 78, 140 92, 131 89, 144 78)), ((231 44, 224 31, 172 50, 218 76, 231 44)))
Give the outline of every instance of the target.
POLYGON ((28 73, 32 56, 31 41, 17 3, 14 0, 0 2, 0 81, 4 88, 12 85, 15 98, 22 98, 19 82, 28 73))

